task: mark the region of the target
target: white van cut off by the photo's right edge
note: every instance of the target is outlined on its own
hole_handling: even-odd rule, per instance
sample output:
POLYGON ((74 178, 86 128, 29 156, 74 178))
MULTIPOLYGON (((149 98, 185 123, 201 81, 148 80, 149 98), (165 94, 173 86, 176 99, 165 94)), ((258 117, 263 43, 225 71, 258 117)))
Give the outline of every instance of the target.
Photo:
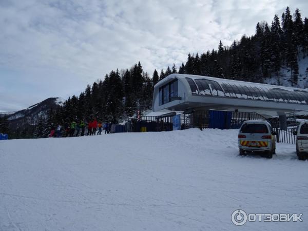
POLYGON ((305 160, 308 157, 308 120, 304 120, 297 127, 296 135, 296 153, 299 160, 305 160))

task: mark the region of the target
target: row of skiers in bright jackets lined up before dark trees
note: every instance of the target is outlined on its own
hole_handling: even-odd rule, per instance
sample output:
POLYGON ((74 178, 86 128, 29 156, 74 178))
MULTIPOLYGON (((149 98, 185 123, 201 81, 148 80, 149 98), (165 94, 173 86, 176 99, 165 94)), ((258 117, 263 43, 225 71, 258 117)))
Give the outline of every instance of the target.
MULTIPOLYGON (((102 129, 105 129, 105 134, 106 133, 110 133, 110 123, 106 122, 104 124, 102 124, 101 121, 97 121, 97 119, 94 120, 89 120, 87 122, 87 133, 86 136, 95 136, 96 132, 97 132, 97 128, 98 130, 98 135, 102 134, 102 129)), ((84 120, 81 120, 79 123, 76 123, 75 121, 72 121, 70 124, 65 123, 64 125, 64 130, 65 130, 65 137, 83 137, 85 135, 85 128, 86 128, 86 123, 84 122, 84 120)), ((54 132, 55 132, 55 126, 53 124, 51 124, 50 126, 50 134, 49 137, 53 137, 54 136, 54 132)), ((56 127, 56 137, 62 137, 62 125, 58 124, 56 127)))

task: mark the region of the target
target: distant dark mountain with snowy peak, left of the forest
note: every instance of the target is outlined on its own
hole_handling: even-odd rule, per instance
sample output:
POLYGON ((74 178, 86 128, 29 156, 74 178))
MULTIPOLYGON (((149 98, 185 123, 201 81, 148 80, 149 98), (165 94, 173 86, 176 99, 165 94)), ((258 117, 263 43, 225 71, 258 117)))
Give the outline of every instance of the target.
POLYGON ((8 116, 11 129, 17 129, 27 125, 36 125, 40 117, 46 118, 48 111, 62 106, 64 99, 48 98, 40 103, 34 104, 27 109, 16 111, 8 116))

